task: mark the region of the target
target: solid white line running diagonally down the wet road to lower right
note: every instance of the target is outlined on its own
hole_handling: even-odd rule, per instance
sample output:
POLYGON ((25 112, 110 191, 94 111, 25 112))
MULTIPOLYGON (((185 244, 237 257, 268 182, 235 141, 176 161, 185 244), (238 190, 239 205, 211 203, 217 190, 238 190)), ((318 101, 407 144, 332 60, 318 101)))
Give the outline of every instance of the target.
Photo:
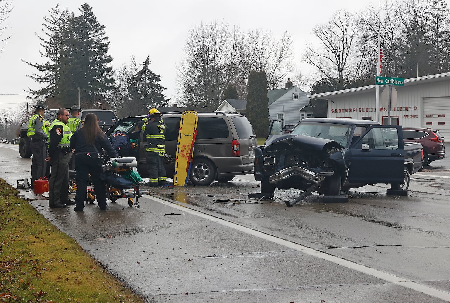
POLYGON ((317 250, 313 250, 312 248, 309 248, 309 247, 306 247, 306 246, 302 246, 302 245, 297 244, 297 243, 289 242, 287 240, 280 239, 278 237, 274 237, 274 236, 268 235, 266 233, 261 233, 259 231, 256 231, 256 230, 248 228, 248 227, 244 227, 244 226, 239 225, 239 224, 235 224, 235 223, 223 220, 223 219, 216 218, 216 217, 214 217, 212 215, 207 215, 207 214, 204 214, 202 212, 195 211, 195 210, 190 209, 190 208, 185 207, 185 206, 181 206, 181 205, 178 205, 178 204, 175 204, 175 203, 167 202, 165 200, 162 200, 162 199, 159 199, 159 198, 156 198, 156 197, 153 197, 153 196, 151 196, 149 198, 153 199, 156 202, 159 202, 159 203, 165 204, 167 206, 171 206, 173 208, 176 208, 176 209, 178 209, 180 211, 184 211, 184 212, 187 212, 189 214, 196 215, 196 216, 201 217, 203 219, 207 219, 207 220, 210 220, 212 222, 215 222, 215 223, 227 226, 229 228, 236 229, 236 230, 241 231, 243 233, 247 233, 247 234, 250 234, 252 236, 256 236, 256 237, 259 237, 261 239, 265 239, 267 241, 270 241, 270 242, 273 242, 273 243, 276 243, 276 244, 279 244, 279 245, 282 245, 282 246, 285 246, 285 247, 288 247, 288 248, 291 248, 291 249, 294 249, 294 250, 301 251, 301 252, 303 252, 305 254, 312 255, 314 257, 317 257, 317 258, 324 259, 324 260, 329 261, 329 262, 333 262, 333 263, 342 265, 344 267, 356 270, 358 272, 362 272, 362 273, 368 274, 370 276, 377 277, 377 278, 382 279, 384 281, 387 281, 387 282, 390 282, 390 283, 393 283, 393 284, 396 284, 396 285, 400 285, 400 286, 403 286, 403 287, 406 287, 406 288, 410 288, 412 290, 419 291, 419 292, 421 292, 423 294, 428 294, 428 295, 430 295, 432 297, 435 297, 437 299, 441 299, 441 300, 450 302, 450 293, 445 292, 443 290, 437 290, 435 288, 432 288, 432 287, 429 287, 429 286, 426 286, 426 285, 422 285, 422 284, 419 284, 419 283, 411 281, 411 280, 407 280, 407 279, 404 279, 404 278, 401 278, 401 277, 396 277, 396 276, 388 274, 386 272, 381 272, 379 270, 376 270, 376 269, 373 269, 373 268, 369 268, 367 266, 364 266, 364 265, 361 265, 361 264, 358 264, 358 263, 354 263, 354 262, 351 262, 351 261, 348 261, 348 260, 345 260, 345 259, 341 259, 341 258, 338 258, 338 257, 333 256, 333 255, 328 255, 328 254, 325 254, 323 252, 320 252, 320 251, 317 251, 317 250))

